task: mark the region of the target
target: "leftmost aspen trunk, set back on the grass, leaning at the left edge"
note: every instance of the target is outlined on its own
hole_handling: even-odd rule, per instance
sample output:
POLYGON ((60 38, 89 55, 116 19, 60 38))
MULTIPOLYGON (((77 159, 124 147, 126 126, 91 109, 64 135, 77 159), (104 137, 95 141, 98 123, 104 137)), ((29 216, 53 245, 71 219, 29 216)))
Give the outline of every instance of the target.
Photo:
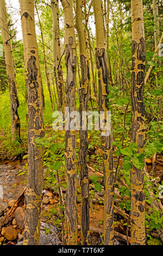
POLYGON ((12 140, 20 140, 20 118, 17 113, 19 106, 18 95, 16 89, 16 78, 14 71, 14 60, 12 56, 12 45, 8 29, 7 11, 5 1, 0 0, 0 27, 4 45, 5 64, 7 69, 10 93, 10 115, 11 115, 11 136, 12 140))

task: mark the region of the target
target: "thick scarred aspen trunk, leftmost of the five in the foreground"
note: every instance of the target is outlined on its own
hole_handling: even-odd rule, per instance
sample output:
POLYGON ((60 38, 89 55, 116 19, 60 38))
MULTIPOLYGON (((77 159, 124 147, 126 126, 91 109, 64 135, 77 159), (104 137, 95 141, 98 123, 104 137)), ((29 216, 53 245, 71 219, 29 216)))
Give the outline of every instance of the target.
POLYGON ((20 7, 29 117, 28 174, 23 244, 39 245, 43 148, 36 147, 35 139, 44 136, 42 84, 35 33, 34 0, 20 0, 20 7))

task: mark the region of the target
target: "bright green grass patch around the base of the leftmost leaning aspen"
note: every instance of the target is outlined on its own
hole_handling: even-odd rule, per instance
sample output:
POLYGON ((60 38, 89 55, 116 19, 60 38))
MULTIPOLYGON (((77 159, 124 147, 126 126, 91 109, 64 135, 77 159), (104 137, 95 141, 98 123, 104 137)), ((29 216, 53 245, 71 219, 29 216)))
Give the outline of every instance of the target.
MULTIPOLYGON (((18 115, 21 120, 21 143, 12 142, 11 139, 11 120, 10 120, 10 95, 9 90, 0 94, 0 160, 14 159, 16 156, 27 154, 27 138, 28 138, 28 123, 27 123, 27 102, 18 88, 18 115)), ((45 96, 45 111, 43 112, 43 121, 45 125, 52 124, 52 109, 49 100, 48 90, 46 85, 43 86, 45 96)))

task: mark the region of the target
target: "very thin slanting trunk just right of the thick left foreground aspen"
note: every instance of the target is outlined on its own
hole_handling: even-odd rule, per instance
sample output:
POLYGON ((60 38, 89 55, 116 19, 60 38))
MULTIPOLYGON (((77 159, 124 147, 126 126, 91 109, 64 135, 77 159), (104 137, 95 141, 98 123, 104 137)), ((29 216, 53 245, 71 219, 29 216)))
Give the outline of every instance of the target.
POLYGON ((46 63, 45 44, 44 44, 44 39, 43 39, 42 25, 41 25, 41 21, 40 21, 40 17, 39 17, 39 11, 37 9, 37 0, 35 0, 35 8, 36 8, 36 13, 37 13, 37 17, 38 17, 39 25, 40 25, 42 48, 43 48, 43 62, 44 62, 44 65, 45 65, 46 83, 47 83, 47 87, 48 87, 49 98, 50 98, 50 101, 51 101, 51 109, 52 109, 52 112, 53 112, 54 111, 54 105, 53 105, 53 99, 52 99, 51 83, 50 83, 49 77, 48 77, 48 67, 47 67, 47 63, 46 63))

